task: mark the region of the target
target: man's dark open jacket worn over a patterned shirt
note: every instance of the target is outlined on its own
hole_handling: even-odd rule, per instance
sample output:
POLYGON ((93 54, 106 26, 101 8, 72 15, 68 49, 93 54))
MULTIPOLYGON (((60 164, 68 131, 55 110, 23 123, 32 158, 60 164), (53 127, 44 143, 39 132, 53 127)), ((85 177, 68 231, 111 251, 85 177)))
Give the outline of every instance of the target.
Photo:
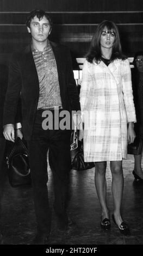
MULTIPOLYGON (((70 51, 66 46, 50 42, 57 63, 61 103, 64 110, 80 110, 79 96, 73 77, 70 51)), ((47 84, 48 86, 48 84, 47 84)), ((14 124, 18 99, 22 100, 24 138, 32 136, 39 100, 39 79, 30 45, 13 54, 9 66, 9 83, 4 104, 5 124, 14 124)))

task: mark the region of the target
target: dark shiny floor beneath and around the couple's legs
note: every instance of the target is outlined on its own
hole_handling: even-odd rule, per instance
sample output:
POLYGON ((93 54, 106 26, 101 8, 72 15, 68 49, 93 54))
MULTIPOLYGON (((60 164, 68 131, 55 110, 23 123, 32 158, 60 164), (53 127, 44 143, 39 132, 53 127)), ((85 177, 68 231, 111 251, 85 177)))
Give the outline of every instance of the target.
MULTIPOLYGON (((142 162, 143 163, 143 162, 142 162)), ((77 172, 71 170, 71 201, 69 216, 72 225, 65 234, 58 233, 53 211, 51 245, 142 245, 143 244, 143 182, 134 181, 132 174, 134 159, 128 155, 123 161, 125 187, 123 192, 122 216, 129 224, 131 235, 123 236, 111 221, 111 230, 100 227, 100 204, 94 185, 94 168, 77 172)), ((48 168, 48 190, 53 204, 52 174, 48 168)), ((107 199, 110 216, 113 212, 111 174, 107 167, 107 199)), ((4 245, 28 245, 32 242, 36 222, 31 187, 13 188, 6 178, 2 198, 2 233, 4 245)))

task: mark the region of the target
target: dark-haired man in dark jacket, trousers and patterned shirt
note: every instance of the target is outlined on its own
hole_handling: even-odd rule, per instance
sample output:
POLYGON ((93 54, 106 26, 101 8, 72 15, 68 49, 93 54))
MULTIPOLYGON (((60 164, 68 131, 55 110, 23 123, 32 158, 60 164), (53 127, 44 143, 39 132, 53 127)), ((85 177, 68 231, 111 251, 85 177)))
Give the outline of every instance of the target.
MULTIPOLYGON (((32 42, 24 50, 13 54, 10 62, 3 134, 5 139, 14 141, 14 117, 21 93, 22 130, 29 149, 38 228, 33 243, 46 244, 49 242, 51 228, 47 191, 47 151, 49 149, 49 165, 54 179, 57 227, 65 231, 68 224, 66 203, 71 169, 71 130, 63 130, 59 126, 57 128, 57 120, 61 121, 61 111, 71 113, 80 110, 80 103, 69 50, 48 40, 52 29, 48 14, 43 10, 33 10, 26 25, 32 42), (46 129, 43 125, 45 110, 46 113, 52 113, 49 121, 52 129, 46 129)), ((79 125, 80 114, 76 116, 79 125)))

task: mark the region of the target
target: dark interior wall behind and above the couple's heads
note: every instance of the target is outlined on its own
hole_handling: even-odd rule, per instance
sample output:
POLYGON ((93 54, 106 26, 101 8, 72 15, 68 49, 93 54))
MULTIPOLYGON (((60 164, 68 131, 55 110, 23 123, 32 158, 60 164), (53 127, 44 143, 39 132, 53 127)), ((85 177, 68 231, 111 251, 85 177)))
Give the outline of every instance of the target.
POLYGON ((69 46, 73 57, 85 56, 97 24, 103 20, 117 24, 128 57, 143 50, 142 0, 0 0, 0 64, 8 65, 11 53, 29 43, 25 22, 35 8, 51 15, 50 40, 69 46))

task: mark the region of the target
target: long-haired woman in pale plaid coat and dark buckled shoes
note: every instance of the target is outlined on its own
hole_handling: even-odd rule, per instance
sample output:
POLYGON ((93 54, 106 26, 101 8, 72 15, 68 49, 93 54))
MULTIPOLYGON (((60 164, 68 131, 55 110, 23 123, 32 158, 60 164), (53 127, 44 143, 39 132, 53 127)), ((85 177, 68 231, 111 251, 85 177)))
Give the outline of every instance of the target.
MULTIPOLYGON (((101 204, 101 227, 110 228, 106 202, 105 170, 110 161, 113 220, 122 234, 130 234, 121 217, 123 192, 122 159, 127 143, 135 138, 135 108, 128 59, 122 54, 114 22, 103 21, 92 38, 83 66, 80 105, 84 123, 84 160, 95 162, 95 186, 101 204), (127 130, 128 123, 128 130, 127 130)), ((82 138, 80 131, 79 139, 82 138)))

